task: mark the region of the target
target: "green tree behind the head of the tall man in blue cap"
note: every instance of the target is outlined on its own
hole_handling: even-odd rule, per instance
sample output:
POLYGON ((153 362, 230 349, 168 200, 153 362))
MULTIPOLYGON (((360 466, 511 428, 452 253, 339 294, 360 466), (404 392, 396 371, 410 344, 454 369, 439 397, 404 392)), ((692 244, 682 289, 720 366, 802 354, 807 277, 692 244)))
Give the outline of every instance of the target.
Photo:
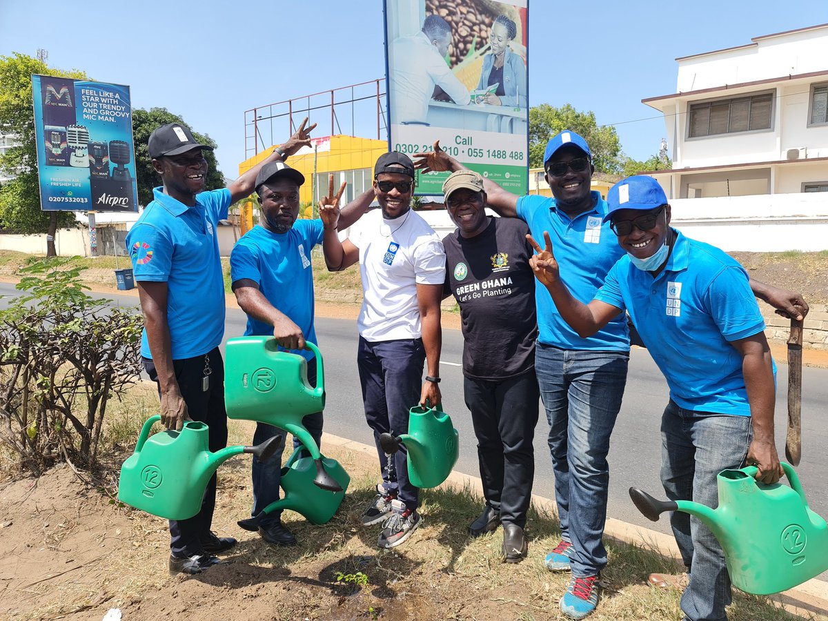
POLYGON ((565 129, 580 134, 590 145, 596 171, 616 174, 621 170, 621 142, 615 128, 599 127, 594 112, 578 112, 569 103, 561 108, 548 103, 529 108, 529 166, 543 166, 546 142, 565 129))

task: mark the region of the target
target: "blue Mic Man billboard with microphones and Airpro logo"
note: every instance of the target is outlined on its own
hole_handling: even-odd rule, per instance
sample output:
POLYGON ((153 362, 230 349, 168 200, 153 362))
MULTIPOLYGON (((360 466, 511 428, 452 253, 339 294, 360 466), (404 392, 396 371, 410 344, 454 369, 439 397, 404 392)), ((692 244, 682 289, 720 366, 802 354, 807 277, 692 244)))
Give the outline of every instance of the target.
POLYGON ((44 211, 137 211, 129 87, 31 76, 44 211))

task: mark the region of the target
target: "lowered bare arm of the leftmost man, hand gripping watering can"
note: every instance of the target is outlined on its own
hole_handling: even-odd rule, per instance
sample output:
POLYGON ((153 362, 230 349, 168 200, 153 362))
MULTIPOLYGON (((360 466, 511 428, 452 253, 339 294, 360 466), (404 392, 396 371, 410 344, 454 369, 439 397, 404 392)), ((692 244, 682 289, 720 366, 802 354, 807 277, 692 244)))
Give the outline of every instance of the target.
POLYGON ((166 319, 166 282, 138 281, 138 297, 144 314, 147 343, 152 363, 158 373, 161 391, 161 424, 167 429, 181 431, 184 421, 190 420, 187 404, 181 396, 181 388, 172 364, 172 340, 170 325, 166 319))

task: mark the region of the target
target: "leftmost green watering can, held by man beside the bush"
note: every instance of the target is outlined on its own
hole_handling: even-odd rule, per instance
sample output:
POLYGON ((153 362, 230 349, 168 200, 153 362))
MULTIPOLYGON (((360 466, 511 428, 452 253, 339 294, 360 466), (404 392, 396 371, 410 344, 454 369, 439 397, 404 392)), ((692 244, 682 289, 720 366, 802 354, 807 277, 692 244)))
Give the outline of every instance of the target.
POLYGON ((252 453, 266 460, 282 442, 282 436, 274 436, 260 445, 210 453, 209 429, 199 421, 186 421, 181 431, 162 431, 147 439, 150 427, 160 420, 156 414, 144 423, 135 452, 123 462, 118 500, 170 520, 199 513, 210 477, 230 457, 252 453))

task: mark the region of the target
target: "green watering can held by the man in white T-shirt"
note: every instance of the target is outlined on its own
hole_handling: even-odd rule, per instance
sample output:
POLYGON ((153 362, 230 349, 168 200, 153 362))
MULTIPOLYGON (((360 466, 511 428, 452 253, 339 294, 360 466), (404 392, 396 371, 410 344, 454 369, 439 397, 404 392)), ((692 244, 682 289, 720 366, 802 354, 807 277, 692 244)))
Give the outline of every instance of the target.
POLYGON ((408 411, 408 433, 379 435, 379 444, 387 455, 396 453, 401 443, 408 452, 408 479, 418 488, 436 488, 445 481, 460 455, 457 430, 440 403, 436 407, 412 407, 408 411))

